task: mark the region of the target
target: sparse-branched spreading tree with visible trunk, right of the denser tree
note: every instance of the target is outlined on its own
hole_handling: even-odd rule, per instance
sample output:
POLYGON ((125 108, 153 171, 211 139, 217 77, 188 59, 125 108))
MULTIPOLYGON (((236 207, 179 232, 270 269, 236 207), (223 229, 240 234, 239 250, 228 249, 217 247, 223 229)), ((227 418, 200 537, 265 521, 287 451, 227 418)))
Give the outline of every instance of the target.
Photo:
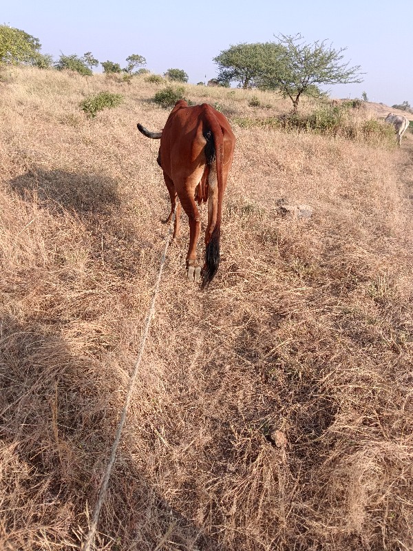
POLYGON ((312 85, 360 83, 360 66, 341 63, 346 48, 335 50, 326 41, 305 43, 301 34, 281 34, 277 37, 282 48, 279 64, 270 74, 264 74, 262 87, 279 90, 293 102, 297 112, 299 98, 312 85))

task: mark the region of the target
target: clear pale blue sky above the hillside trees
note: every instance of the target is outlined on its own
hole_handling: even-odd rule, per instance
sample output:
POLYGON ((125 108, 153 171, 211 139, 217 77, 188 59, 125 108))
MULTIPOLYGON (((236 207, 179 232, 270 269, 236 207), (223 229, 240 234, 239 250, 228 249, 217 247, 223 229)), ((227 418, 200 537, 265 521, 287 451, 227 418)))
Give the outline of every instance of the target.
MULTIPOLYGON (((140 54, 162 74, 183 69, 189 82, 216 76, 213 57, 231 44, 266 42, 301 32, 347 48, 343 61, 361 65, 361 84, 330 95, 413 105, 413 0, 0 0, 1 17, 39 38, 42 52, 92 54, 122 67, 140 54)), ((100 69, 101 70, 101 69, 100 69)))

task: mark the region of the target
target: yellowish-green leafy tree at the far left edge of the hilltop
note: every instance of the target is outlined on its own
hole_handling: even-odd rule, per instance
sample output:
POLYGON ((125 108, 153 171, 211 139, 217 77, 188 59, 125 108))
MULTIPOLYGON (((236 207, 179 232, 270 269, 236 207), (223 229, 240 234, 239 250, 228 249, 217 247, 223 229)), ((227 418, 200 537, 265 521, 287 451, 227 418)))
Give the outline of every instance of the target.
POLYGON ((34 65, 41 58, 40 49, 39 39, 31 34, 8 25, 0 25, 0 65, 34 65))

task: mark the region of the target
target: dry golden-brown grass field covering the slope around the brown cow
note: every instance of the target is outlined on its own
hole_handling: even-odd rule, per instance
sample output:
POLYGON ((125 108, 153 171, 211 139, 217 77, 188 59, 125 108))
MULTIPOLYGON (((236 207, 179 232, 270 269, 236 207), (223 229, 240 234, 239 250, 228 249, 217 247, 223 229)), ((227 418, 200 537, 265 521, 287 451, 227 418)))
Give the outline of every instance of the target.
MULTIPOLYGON (((136 129, 164 125, 159 88, 1 73, 1 550, 87 533, 168 233, 159 144, 136 129), (88 120, 101 90, 125 101, 88 120)), ((290 108, 186 90, 230 121, 290 108)), ((412 135, 233 130, 220 270, 187 282, 183 220, 96 549, 411 551, 412 135)))

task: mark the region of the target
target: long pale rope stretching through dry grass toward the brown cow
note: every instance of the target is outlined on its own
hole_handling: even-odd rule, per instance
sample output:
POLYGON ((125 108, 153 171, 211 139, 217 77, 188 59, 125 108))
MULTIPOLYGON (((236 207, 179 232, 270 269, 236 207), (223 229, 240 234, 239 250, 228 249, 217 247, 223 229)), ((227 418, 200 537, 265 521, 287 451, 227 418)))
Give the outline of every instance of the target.
POLYGON ((173 211, 173 216, 171 220, 171 224, 169 226, 169 232, 166 238, 165 242, 165 249, 162 254, 162 258, 160 259, 160 267, 158 271, 158 278, 156 278, 155 288, 153 289, 153 297, 151 302, 151 307, 149 309, 149 313, 147 315, 147 320, 145 323, 145 330, 143 332, 143 337, 140 342, 140 349, 138 353, 138 357, 136 358, 134 371, 131 374, 131 377, 129 379, 129 388, 127 391, 126 399, 125 399, 125 406, 123 406, 122 415, 120 417, 120 421, 118 424, 118 428, 116 429, 116 435, 114 439, 114 444, 112 445, 112 451, 109 455, 109 460, 107 461, 106 470, 103 474, 102 480, 100 481, 100 488, 98 493, 98 499, 96 501, 96 506, 94 508, 94 514, 92 518, 92 523, 89 528, 89 532, 87 534, 85 543, 82 547, 83 551, 91 551, 93 549, 92 545, 94 544, 95 534, 96 534, 96 528, 98 527, 98 521, 99 521, 99 514, 100 509, 103 506, 103 502, 105 501, 106 492, 107 492, 107 486, 109 484, 109 477, 112 472, 112 467, 114 466, 115 458, 116 458, 116 450, 118 449, 119 441, 120 441, 120 433, 122 432, 123 425, 125 424, 125 419, 127 416, 127 410, 129 408, 129 402, 131 401, 131 395, 134 390, 135 382, 136 382, 136 376, 138 375, 138 368, 140 366, 140 360, 142 360, 143 351, 145 349, 145 343, 147 340, 147 336, 149 333, 149 326, 151 324, 151 319, 153 316, 153 312, 155 311, 155 302, 156 297, 158 295, 159 291, 159 284, 160 284, 160 278, 162 276, 163 267, 165 265, 165 260, 167 258, 167 251, 169 247, 169 236, 171 236, 171 231, 173 228, 173 224, 175 222, 175 216, 176 216, 176 209, 173 211))

